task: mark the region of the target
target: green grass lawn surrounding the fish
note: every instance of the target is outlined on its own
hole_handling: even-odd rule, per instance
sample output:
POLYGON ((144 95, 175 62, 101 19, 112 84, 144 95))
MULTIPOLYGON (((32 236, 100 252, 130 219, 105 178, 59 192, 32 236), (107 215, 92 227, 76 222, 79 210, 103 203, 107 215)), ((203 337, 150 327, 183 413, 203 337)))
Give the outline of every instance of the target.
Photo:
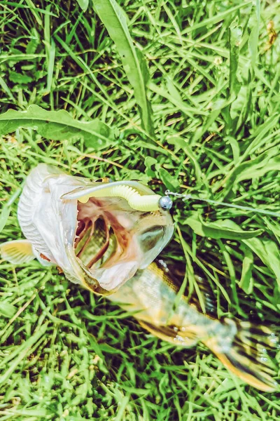
MULTIPOLYGON (((271 20, 280 27, 279 2, 120 4, 148 64, 153 127, 141 124, 91 3, 83 12, 75 1, 1 1, 1 112, 66 109, 99 118, 116 138, 94 149, 29 129, 4 135, 0 241, 22 237, 16 196, 38 162, 279 212, 280 41, 269 45, 267 32, 271 20)), ((173 215, 180 231, 164 255, 186 259, 190 286, 193 271, 204 274, 219 316, 278 323, 279 218, 195 200, 177 200, 173 215)), ((0 284, 0 421, 279 420, 279 393, 244 385, 202 347, 153 338, 56 269, 1 261, 0 284)))

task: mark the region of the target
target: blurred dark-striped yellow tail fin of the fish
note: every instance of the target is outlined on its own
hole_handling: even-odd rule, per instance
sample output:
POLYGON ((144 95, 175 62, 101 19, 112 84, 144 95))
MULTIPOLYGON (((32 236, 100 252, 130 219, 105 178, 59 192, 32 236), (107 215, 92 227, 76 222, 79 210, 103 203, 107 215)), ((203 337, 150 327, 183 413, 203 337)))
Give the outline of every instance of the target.
MULTIPOLYGON (((263 392, 279 390, 278 383, 273 379, 276 367, 267 354, 268 349, 279 348, 279 338, 267 326, 253 325, 248 321, 232 321, 225 323, 236 325, 236 334, 225 350, 218 338, 204 340, 228 370, 241 380, 263 392)), ((224 342, 225 343, 225 342, 224 342)))

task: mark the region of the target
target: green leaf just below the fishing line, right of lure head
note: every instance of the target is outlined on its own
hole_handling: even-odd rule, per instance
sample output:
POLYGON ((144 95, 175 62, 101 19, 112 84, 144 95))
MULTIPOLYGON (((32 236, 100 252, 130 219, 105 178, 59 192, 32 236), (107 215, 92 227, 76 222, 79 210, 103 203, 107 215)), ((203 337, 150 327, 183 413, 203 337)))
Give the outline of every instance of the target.
POLYGON ((218 220, 216 222, 207 223, 202 220, 201 215, 198 212, 194 211, 186 218, 183 225, 188 225, 197 235, 207 236, 212 239, 251 239, 263 232, 262 229, 243 231, 242 229, 239 229, 238 225, 237 228, 232 227, 231 222, 231 220, 218 220))

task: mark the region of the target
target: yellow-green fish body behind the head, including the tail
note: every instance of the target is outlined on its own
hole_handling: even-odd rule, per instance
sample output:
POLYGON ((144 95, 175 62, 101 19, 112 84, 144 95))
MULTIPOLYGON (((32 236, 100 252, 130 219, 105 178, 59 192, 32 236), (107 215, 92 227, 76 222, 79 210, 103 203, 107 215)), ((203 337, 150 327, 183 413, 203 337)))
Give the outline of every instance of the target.
POLYGON ((132 312, 141 326, 158 338, 181 347, 201 342, 244 382, 265 392, 278 389, 272 377, 275 367, 267 354, 267 349, 279 348, 279 338, 272 330, 248 321, 216 319, 209 293, 204 295, 208 314, 190 304, 186 295, 174 308, 177 292, 177 281, 167 265, 153 262, 107 298, 132 312))

